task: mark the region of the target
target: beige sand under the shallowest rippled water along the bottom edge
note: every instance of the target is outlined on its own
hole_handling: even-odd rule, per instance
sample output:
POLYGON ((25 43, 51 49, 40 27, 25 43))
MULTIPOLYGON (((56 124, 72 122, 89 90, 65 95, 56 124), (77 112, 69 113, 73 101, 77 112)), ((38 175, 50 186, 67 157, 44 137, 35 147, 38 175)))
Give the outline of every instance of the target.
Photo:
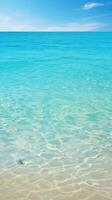
POLYGON ((53 174, 26 171, 0 173, 0 200, 111 200, 111 189, 76 182, 63 173, 53 174))

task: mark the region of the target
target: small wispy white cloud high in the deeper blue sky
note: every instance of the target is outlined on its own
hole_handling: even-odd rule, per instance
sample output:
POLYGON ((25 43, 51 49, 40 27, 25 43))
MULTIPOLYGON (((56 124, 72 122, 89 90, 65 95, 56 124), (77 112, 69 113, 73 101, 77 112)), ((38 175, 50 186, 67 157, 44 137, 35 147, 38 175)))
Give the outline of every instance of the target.
POLYGON ((97 3, 97 2, 88 2, 83 6, 83 9, 84 10, 90 10, 90 9, 93 9, 93 8, 96 8, 96 7, 101 7, 101 6, 104 6, 104 4, 103 3, 97 3))

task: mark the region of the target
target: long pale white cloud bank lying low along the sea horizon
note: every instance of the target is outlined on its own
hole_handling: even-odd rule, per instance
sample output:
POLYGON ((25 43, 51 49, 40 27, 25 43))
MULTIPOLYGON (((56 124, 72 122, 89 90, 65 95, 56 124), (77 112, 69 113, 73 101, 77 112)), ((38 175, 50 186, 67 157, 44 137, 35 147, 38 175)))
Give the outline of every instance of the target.
POLYGON ((14 16, 0 16, 0 31, 95 31, 102 28, 100 23, 65 23, 57 26, 50 26, 49 23, 36 20, 18 20, 14 16), (47 25, 46 25, 47 24, 47 25))

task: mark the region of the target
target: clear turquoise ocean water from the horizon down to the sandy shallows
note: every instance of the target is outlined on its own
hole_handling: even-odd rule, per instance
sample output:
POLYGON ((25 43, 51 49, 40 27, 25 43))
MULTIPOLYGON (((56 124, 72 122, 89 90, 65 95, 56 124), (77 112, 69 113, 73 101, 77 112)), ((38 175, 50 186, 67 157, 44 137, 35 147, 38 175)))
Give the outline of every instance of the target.
POLYGON ((112 33, 0 33, 0 187, 112 199, 112 33))

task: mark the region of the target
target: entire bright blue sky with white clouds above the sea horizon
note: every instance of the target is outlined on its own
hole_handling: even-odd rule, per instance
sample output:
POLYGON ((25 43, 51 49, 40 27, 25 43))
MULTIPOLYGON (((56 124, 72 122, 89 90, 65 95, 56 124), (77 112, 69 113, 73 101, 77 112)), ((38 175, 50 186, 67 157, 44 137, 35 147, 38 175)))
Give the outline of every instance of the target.
POLYGON ((0 31, 112 31, 112 0, 1 0, 0 31))

